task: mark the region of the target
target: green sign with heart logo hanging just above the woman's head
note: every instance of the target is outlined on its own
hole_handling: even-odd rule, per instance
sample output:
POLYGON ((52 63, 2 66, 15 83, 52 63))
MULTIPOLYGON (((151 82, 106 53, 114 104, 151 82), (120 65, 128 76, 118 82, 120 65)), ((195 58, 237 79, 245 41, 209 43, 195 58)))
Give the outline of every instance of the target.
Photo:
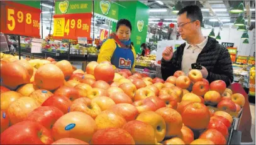
POLYGON ((94 1, 94 11, 105 17, 118 20, 118 4, 112 1, 94 1))

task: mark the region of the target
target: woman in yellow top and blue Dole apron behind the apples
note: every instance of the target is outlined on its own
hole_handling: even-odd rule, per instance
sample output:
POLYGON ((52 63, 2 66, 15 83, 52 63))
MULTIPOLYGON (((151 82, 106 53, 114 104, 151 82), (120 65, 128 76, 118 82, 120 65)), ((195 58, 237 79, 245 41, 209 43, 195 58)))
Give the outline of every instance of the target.
POLYGON ((114 71, 130 69, 135 71, 135 49, 131 45, 131 22, 120 19, 116 24, 116 33, 102 44, 97 63, 109 61, 113 64, 114 71))

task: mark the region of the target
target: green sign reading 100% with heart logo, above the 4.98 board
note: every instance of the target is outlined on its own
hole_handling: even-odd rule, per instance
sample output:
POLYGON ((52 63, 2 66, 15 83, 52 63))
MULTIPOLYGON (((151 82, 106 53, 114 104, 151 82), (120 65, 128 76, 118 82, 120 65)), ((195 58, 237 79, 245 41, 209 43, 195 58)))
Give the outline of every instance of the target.
POLYGON ((55 14, 91 13, 92 1, 56 1, 55 14))

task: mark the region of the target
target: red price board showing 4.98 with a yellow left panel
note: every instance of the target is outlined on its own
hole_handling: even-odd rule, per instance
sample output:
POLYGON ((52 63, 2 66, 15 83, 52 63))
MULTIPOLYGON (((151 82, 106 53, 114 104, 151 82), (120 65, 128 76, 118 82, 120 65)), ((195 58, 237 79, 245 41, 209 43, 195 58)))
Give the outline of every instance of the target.
POLYGON ((91 13, 59 14, 53 17, 53 38, 77 39, 77 37, 90 37, 91 13))

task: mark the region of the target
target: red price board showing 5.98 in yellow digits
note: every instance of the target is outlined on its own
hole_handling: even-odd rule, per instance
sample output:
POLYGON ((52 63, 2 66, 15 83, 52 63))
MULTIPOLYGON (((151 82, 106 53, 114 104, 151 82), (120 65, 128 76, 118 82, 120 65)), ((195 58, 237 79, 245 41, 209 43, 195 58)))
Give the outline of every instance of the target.
POLYGON ((41 10, 12 1, 1 1, 1 32, 40 37, 41 10))

